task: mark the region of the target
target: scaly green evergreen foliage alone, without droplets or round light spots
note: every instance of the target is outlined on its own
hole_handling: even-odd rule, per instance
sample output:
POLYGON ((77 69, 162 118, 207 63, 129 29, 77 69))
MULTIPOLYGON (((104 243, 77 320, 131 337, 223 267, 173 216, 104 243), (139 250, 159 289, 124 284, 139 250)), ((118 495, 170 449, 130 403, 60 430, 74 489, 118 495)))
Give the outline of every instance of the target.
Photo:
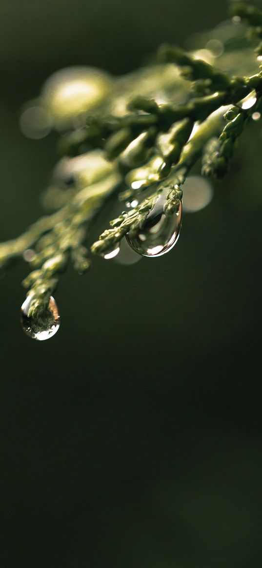
MULTIPOLYGON (((247 22, 249 39, 262 39, 260 10, 235 3, 232 16, 247 22)), ((256 49, 259 56, 261 46, 256 49)), ((139 73, 133 78, 138 82, 142 78, 143 84, 143 72, 139 73)), ((224 176, 236 140, 260 105, 262 71, 230 76, 194 53, 164 45, 157 53, 153 73, 158 77, 155 92, 148 89, 147 93, 145 88, 138 95, 128 76, 115 81, 100 106, 91 108, 85 124, 72 127, 61 137, 60 153, 70 157, 89 152, 92 156, 99 148, 103 167, 98 164, 84 185, 75 182, 74 191, 59 210, 39 219, 18 238, 0 244, 0 266, 21 257, 28 248, 35 249, 33 270, 23 281, 32 300, 28 318, 38 320, 45 314, 69 260, 80 273, 89 269, 89 227, 111 194, 118 193, 120 200, 127 201, 140 194, 143 197, 143 190, 149 190, 145 199, 131 211, 123 211, 92 245, 91 251, 102 256, 114 250, 127 233, 136 235, 161 193, 165 195, 164 214, 177 213, 181 186, 201 156, 203 174, 224 176), (167 80, 170 69, 175 72, 177 68, 181 78, 175 73, 167 80), (157 87, 164 102, 159 101, 157 87), (179 103, 178 91, 184 99, 179 103), (252 95, 255 105, 242 107, 243 99, 252 95)), ((44 104, 41 98, 39 104, 44 104)))

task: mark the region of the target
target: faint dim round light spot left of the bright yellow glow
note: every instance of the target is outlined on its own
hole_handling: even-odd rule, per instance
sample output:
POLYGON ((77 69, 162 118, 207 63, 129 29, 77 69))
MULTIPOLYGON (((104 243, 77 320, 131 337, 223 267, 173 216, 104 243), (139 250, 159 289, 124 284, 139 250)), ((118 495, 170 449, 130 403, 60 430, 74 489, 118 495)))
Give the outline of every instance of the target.
POLYGON ((26 108, 20 116, 20 130, 34 140, 44 138, 52 129, 52 120, 48 112, 41 106, 26 108))

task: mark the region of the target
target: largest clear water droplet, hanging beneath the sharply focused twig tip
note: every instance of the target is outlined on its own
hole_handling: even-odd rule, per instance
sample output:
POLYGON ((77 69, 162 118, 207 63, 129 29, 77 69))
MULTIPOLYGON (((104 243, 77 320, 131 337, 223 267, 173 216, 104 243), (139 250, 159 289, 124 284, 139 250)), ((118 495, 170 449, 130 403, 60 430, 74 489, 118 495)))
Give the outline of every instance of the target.
POLYGON ((142 256, 161 256, 176 244, 182 218, 182 203, 173 215, 165 215, 164 204, 167 194, 159 195, 155 205, 149 212, 142 228, 135 236, 128 233, 126 239, 130 247, 142 256))

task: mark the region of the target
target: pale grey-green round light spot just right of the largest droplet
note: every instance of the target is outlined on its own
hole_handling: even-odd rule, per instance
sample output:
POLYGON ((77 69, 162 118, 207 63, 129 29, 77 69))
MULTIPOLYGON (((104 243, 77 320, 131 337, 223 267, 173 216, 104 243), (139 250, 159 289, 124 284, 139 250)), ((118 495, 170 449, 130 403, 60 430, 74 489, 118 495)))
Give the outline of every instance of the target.
POLYGON ((189 176, 183 185, 183 210, 194 213, 206 207, 213 198, 210 181, 201 176, 189 176))

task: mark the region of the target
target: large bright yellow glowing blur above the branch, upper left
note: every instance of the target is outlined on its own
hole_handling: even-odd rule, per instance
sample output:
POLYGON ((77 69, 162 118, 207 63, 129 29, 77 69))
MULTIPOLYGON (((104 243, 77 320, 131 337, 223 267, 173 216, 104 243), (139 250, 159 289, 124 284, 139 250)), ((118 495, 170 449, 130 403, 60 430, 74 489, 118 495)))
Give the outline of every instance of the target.
POLYGON ((84 122, 86 112, 101 103, 110 90, 111 80, 106 73, 90 67, 72 67, 51 75, 41 97, 56 127, 63 129, 72 121, 75 123, 77 117, 84 122))

